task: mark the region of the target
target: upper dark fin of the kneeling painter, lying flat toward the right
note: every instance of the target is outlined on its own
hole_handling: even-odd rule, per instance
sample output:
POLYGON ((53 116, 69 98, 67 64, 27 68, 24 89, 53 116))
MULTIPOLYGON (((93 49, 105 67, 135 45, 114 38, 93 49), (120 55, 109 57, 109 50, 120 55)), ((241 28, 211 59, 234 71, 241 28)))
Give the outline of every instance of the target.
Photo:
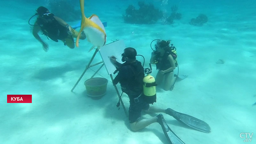
POLYGON ((201 132, 205 132, 205 133, 211 132, 211 128, 207 123, 205 123, 204 121, 197 119, 193 116, 189 116, 187 114, 182 114, 182 113, 177 112, 171 108, 167 108, 165 110, 165 113, 174 117, 181 123, 186 124, 197 131, 201 131, 201 132))

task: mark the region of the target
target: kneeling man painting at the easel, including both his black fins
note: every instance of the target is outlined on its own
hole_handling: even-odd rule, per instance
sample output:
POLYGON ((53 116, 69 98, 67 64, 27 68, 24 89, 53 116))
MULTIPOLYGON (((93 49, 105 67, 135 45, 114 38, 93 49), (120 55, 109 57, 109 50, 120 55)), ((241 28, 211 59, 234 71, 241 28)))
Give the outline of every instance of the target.
MULTIPOLYGON (((159 114, 152 118, 141 118, 141 111, 146 113, 165 113, 173 116, 175 119, 183 124, 190 126, 201 132, 209 133, 211 128, 207 123, 199 120, 193 116, 182 114, 172 110, 171 108, 162 109, 157 107, 150 107, 149 103, 156 102, 153 100, 148 102, 147 96, 143 92, 143 79, 144 79, 144 68, 141 62, 136 60, 137 52, 134 48, 128 47, 124 49, 122 54, 123 64, 116 61, 115 56, 109 57, 111 63, 117 68, 119 72, 113 84, 120 83, 122 92, 126 93, 129 97, 130 107, 129 107, 129 122, 132 131, 138 131, 145 128, 152 123, 159 123, 163 129, 163 132, 171 144, 184 144, 180 138, 175 135, 174 132, 167 125, 164 120, 164 116, 159 114)), ((152 83, 150 86, 156 86, 152 83)), ((156 91, 156 90, 154 90, 156 91)), ((153 94, 154 95, 154 94, 153 94)), ((121 95, 122 96, 122 95, 121 95)))

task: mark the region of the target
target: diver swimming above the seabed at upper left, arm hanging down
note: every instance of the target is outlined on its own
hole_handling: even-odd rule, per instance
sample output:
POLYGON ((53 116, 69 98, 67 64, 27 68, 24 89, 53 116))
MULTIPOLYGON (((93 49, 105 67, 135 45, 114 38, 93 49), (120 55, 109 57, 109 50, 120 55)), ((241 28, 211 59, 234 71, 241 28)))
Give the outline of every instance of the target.
MULTIPOLYGON (((68 25, 64 20, 55 16, 53 13, 49 12, 49 10, 43 6, 37 8, 36 14, 34 16, 36 15, 38 15, 38 17, 36 19, 35 24, 32 25, 33 36, 43 45, 43 49, 45 52, 48 51, 49 47, 48 44, 46 44, 37 34, 40 30, 42 31, 42 34, 47 36, 47 38, 49 37, 55 42, 61 40, 64 43, 64 45, 67 45, 69 48, 75 48, 74 37, 77 37, 78 35, 78 32, 75 29, 71 28, 71 26, 68 25)), ((29 21, 31 20, 31 18, 29 19, 29 21)), ((85 34, 82 33, 80 35, 80 39, 85 38, 85 34)))

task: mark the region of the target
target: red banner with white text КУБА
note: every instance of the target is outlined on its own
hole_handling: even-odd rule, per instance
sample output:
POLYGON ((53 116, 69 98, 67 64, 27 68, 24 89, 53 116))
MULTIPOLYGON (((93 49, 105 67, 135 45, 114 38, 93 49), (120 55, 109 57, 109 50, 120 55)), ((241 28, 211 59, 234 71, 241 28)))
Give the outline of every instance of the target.
POLYGON ((32 103, 31 94, 7 94, 7 103, 32 103))

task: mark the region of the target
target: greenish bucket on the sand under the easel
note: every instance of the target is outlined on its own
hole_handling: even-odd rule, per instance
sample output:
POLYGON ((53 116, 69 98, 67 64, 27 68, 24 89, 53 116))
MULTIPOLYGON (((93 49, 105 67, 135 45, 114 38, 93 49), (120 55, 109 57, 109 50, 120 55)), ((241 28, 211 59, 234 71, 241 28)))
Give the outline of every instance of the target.
POLYGON ((93 99, 100 99, 107 91, 108 80, 102 77, 94 77, 84 82, 87 95, 93 99))

